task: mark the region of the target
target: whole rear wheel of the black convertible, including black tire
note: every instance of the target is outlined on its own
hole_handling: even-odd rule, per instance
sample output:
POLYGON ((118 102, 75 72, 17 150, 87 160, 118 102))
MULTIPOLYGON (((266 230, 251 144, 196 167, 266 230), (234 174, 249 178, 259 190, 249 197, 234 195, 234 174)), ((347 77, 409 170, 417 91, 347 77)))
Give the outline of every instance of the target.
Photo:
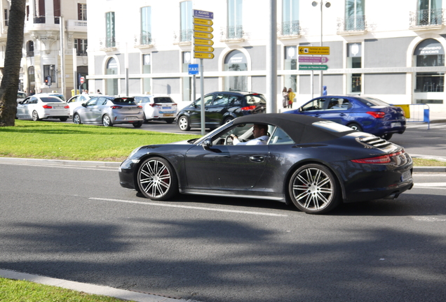
POLYGON ((329 168, 307 164, 298 168, 290 178, 288 192, 292 203, 309 214, 323 214, 340 203, 340 188, 329 168))

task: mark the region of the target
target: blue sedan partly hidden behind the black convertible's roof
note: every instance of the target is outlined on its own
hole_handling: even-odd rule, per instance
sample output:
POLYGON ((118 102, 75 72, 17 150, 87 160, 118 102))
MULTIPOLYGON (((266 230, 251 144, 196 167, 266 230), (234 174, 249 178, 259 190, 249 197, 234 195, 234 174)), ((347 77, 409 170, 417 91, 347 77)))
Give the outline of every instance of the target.
POLYGON ((285 113, 320 117, 386 140, 406 129, 402 108, 368 96, 320 96, 285 113))

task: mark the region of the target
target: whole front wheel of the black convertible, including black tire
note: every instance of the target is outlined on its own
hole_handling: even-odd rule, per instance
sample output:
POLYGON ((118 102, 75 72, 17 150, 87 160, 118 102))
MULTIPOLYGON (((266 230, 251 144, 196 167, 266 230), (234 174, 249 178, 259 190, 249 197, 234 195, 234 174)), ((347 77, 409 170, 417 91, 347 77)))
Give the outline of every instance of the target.
POLYGON ((146 159, 137 173, 138 191, 151 200, 166 200, 178 193, 173 167, 161 157, 146 159))

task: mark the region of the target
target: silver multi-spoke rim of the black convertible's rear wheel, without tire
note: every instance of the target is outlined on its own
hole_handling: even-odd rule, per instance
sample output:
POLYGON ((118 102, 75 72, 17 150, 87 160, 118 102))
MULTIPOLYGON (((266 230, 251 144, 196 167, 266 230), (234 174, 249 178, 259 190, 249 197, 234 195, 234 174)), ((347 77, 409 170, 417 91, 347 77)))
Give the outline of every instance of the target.
POLYGON ((299 208, 317 212, 334 199, 334 180, 318 167, 304 168, 293 175, 290 191, 299 208))

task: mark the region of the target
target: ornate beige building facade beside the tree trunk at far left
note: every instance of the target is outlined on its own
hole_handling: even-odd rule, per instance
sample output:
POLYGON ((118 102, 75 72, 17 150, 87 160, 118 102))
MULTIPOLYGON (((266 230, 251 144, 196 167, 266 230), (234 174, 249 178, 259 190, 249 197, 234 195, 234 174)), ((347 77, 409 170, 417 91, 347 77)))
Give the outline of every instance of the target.
MULTIPOLYGON (((1 70, 11 1, 0 0, 0 5, 1 70)), ((86 0, 28 0, 24 35, 20 90, 56 91, 68 97, 74 86, 79 89, 79 74, 88 75, 86 0)))

